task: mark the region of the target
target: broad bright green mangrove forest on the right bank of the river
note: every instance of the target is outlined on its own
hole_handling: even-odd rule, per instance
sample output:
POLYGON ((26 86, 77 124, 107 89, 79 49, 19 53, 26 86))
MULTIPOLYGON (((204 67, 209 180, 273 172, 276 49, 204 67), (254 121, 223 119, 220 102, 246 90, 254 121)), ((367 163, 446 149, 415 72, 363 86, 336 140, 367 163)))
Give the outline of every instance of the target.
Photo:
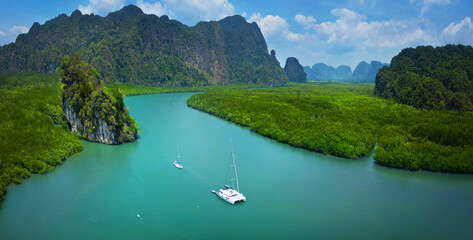
POLYGON ((473 173, 473 114, 427 111, 373 96, 372 84, 216 89, 187 100, 252 130, 317 152, 409 170, 473 173))

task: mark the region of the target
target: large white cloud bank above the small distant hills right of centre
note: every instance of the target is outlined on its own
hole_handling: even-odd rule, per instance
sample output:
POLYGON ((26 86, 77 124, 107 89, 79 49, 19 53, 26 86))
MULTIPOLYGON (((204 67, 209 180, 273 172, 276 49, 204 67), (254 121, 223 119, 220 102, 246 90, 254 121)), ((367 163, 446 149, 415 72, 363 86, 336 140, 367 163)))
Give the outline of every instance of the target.
POLYGON ((326 22, 296 15, 294 22, 304 26, 301 33, 292 32, 280 16, 256 13, 249 21, 258 24, 268 47, 277 50, 282 63, 293 56, 304 65, 325 62, 354 68, 362 60, 390 62, 406 47, 440 43, 435 31, 426 29, 426 23, 418 18, 368 21, 366 16, 346 8, 333 9, 331 13, 336 19, 326 22))

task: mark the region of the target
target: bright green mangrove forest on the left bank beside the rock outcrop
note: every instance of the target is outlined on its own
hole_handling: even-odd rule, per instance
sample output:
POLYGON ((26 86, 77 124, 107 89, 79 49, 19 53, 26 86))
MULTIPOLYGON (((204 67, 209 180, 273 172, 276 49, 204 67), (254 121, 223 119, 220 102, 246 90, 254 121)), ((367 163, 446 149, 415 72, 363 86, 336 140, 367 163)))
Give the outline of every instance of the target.
POLYGON ((82 150, 52 74, 0 73, 0 200, 11 182, 54 169, 82 150))

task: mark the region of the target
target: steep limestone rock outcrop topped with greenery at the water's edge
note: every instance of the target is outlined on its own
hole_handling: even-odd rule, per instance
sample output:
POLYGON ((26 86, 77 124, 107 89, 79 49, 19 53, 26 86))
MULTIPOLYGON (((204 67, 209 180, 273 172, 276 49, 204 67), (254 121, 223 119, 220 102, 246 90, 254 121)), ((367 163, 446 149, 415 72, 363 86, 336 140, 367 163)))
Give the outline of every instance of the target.
POLYGON ((120 89, 107 89, 99 73, 77 55, 64 57, 57 72, 62 107, 72 132, 108 144, 136 139, 138 127, 128 114, 120 89))

